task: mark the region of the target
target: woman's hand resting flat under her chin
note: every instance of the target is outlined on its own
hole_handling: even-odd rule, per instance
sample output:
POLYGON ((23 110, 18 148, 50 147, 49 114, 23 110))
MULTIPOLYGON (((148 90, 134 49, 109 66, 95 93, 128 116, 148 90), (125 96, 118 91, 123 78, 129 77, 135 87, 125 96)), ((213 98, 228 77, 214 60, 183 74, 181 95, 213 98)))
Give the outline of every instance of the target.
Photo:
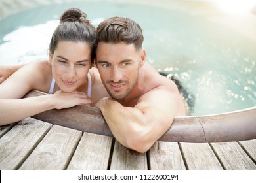
POLYGON ((56 100, 54 106, 56 109, 70 108, 75 105, 86 105, 92 103, 91 98, 88 97, 88 95, 77 91, 66 93, 59 90, 53 94, 53 97, 54 100, 56 100))

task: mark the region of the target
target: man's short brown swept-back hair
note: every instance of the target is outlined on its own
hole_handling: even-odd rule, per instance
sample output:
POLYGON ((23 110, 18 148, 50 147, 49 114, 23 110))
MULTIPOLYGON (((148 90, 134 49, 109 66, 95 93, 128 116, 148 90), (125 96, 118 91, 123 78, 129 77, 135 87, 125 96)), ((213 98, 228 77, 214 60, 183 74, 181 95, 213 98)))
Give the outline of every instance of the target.
POLYGON ((98 25, 96 31, 98 42, 134 44, 139 50, 142 48, 143 34, 140 25, 129 18, 112 17, 104 20, 98 25))

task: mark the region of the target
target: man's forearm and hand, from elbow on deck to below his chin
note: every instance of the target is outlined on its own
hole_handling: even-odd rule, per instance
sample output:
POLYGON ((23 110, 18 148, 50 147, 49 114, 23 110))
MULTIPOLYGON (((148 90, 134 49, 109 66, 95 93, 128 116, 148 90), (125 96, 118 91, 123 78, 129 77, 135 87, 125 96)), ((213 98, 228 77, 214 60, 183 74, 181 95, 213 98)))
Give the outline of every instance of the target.
POLYGON ((145 152, 152 146, 152 142, 147 139, 149 126, 141 110, 123 107, 110 97, 102 99, 96 107, 100 108, 114 137, 123 146, 138 152, 145 152))

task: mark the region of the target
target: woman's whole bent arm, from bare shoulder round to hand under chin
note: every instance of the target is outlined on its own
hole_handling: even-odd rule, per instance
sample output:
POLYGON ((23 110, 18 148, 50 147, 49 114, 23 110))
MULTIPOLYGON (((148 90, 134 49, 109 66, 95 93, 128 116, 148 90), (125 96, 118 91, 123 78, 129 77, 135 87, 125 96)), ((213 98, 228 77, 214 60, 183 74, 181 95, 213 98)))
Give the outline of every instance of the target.
POLYGON ((47 68, 47 63, 30 63, 0 84, 0 125, 11 124, 52 108, 69 108, 91 103, 85 93, 76 91, 59 91, 53 95, 21 99, 30 90, 48 90, 51 82, 49 72, 51 69, 47 68))

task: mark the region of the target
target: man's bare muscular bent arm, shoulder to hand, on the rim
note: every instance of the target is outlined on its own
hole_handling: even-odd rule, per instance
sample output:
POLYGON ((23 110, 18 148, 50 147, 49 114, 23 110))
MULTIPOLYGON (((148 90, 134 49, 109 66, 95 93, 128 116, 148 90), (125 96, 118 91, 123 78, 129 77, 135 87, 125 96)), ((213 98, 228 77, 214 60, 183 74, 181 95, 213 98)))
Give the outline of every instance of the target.
POLYGON ((140 97, 135 107, 123 107, 107 97, 96 104, 117 141, 146 152, 168 129, 177 113, 178 96, 155 90, 140 97))

